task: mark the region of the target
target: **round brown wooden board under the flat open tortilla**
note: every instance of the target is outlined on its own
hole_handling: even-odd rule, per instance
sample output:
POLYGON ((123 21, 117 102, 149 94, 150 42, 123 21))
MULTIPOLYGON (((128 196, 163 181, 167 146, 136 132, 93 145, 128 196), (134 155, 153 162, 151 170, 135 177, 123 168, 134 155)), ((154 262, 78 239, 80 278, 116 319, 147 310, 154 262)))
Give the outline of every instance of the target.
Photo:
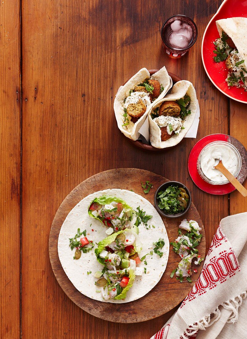
MULTIPOLYGON (((119 168, 110 169, 109 171, 98 173, 80 183, 74 190, 63 200, 55 218, 52 223, 50 238, 49 238, 49 253, 52 265, 52 270, 55 277, 62 287, 67 296, 84 311, 104 320, 121 322, 121 323, 133 323, 146 321, 156 318, 177 306, 190 292, 195 281, 199 277, 202 270, 202 264, 196 266, 197 273, 193 273, 193 283, 189 283, 186 280, 180 283, 173 277, 170 278, 171 271, 177 266, 180 261, 180 257, 173 252, 170 246, 169 259, 166 267, 166 271, 161 277, 158 284, 144 297, 135 301, 114 304, 107 302, 100 302, 90 299, 81 294, 74 285, 71 283, 62 265, 59 261, 57 242, 60 228, 72 208, 83 198, 91 193, 105 190, 107 188, 120 188, 125 190, 133 190, 135 193, 145 197, 152 204, 154 204, 154 193, 158 186, 168 181, 168 179, 149 172, 144 169, 137 168, 119 168), (153 184, 149 194, 143 193, 140 181, 150 181, 153 184)), ((194 206, 191 204, 190 210, 187 214, 178 219, 168 219, 162 217, 166 226, 169 241, 174 241, 178 236, 178 225, 182 219, 196 220, 202 227, 202 241, 198 245, 199 253, 202 257, 205 257, 206 241, 205 232, 202 220, 194 206)), ((194 265, 192 265, 193 269, 194 265)))

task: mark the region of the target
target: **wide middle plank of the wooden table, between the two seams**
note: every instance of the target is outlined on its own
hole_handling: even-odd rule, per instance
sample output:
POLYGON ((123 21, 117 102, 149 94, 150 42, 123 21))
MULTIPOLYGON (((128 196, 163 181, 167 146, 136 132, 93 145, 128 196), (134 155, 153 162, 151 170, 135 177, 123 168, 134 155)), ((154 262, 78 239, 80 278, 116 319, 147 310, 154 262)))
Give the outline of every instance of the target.
POLYGON ((137 167, 186 184, 209 247, 228 215, 228 197, 200 191, 189 177, 187 160, 197 140, 229 132, 228 99, 208 79, 200 52, 203 32, 220 4, 22 0, 22 338, 149 338, 171 316, 172 311, 143 323, 114 324, 82 311, 53 275, 49 232, 59 205, 80 182, 107 169, 137 167), (163 51, 159 32, 176 13, 198 26, 197 42, 179 60, 163 51), (141 67, 164 64, 195 85, 201 121, 196 140, 150 155, 120 133, 113 100, 119 85, 141 67))

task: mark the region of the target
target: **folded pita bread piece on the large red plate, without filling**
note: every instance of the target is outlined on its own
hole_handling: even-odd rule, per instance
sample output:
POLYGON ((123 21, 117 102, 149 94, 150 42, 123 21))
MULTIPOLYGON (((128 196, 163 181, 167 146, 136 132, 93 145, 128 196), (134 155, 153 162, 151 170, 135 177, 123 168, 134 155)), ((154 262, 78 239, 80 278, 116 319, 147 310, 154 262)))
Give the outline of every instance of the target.
MULTIPOLYGON (((237 17, 216 21, 220 37, 224 31, 234 42, 237 50, 247 65, 247 18, 237 17)), ((242 65, 243 66, 243 65, 242 65)))

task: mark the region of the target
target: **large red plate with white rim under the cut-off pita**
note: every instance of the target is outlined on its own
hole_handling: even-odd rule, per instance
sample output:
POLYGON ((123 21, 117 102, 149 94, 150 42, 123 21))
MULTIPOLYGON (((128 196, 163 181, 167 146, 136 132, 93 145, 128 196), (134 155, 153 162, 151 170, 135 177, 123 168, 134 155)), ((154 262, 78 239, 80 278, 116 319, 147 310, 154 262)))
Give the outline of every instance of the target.
POLYGON ((213 54, 213 50, 215 49, 213 41, 219 38, 215 21, 232 17, 247 17, 246 0, 223 1, 217 13, 209 21, 202 40, 203 65, 209 79, 222 93, 233 100, 247 103, 247 92, 245 92, 243 88, 228 88, 225 81, 228 74, 225 62, 217 63, 213 60, 213 56, 215 56, 215 54, 213 54))

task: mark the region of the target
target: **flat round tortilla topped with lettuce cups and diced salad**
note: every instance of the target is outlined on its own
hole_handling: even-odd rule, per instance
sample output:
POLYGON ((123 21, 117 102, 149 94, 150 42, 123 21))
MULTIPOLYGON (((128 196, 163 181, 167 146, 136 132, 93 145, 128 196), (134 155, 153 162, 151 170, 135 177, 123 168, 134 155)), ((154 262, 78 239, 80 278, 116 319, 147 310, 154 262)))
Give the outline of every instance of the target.
POLYGON ((82 199, 68 214, 58 255, 82 294, 123 303, 144 296, 158 283, 166 269, 169 239, 149 201, 127 190, 104 190, 82 199))

